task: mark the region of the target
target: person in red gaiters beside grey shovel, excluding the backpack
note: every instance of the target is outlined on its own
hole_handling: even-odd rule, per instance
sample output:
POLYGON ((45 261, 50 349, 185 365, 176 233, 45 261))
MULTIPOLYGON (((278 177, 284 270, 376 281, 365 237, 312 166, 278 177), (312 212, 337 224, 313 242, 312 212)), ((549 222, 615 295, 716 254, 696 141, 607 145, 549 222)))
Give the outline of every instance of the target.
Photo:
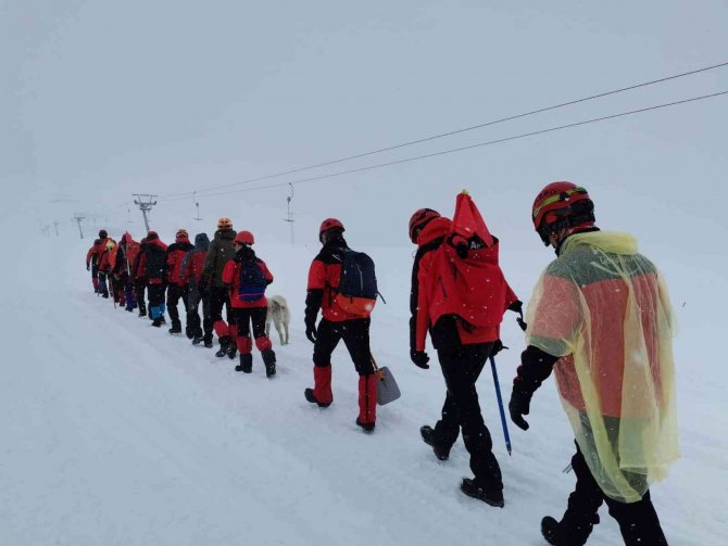
POLYGON ((309 269, 305 334, 314 344, 314 388, 306 389, 304 395, 319 407, 331 405, 331 353, 343 339, 359 373, 356 424, 368 432, 374 430, 377 417, 377 379, 369 348, 369 314, 361 316, 347 313, 335 299, 341 280, 343 255, 349 250, 343 231, 343 225, 336 218, 322 223, 318 240, 323 247, 309 269), (323 318, 316 326, 319 309, 323 318))

